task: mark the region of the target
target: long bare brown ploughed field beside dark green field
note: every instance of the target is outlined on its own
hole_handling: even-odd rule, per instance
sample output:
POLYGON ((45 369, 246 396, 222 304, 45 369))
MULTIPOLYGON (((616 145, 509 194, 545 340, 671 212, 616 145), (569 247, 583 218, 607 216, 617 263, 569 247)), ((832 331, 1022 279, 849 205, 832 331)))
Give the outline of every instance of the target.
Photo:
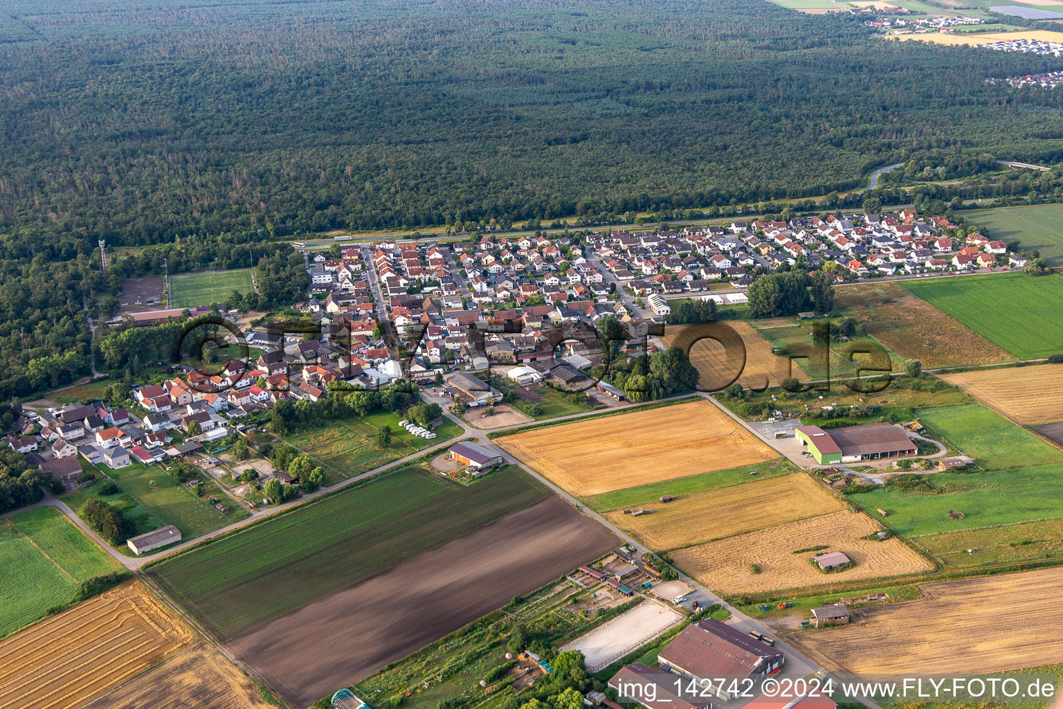
POLYGON ((305 707, 618 543, 551 497, 259 626, 230 648, 305 707))

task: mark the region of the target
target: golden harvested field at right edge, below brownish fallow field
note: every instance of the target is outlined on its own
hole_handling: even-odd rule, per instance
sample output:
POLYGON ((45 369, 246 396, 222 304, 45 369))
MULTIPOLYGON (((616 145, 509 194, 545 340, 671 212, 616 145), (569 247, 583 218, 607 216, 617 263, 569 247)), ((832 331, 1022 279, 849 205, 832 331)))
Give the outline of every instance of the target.
POLYGON ((949 384, 1023 424, 1063 421, 1063 365, 943 374, 949 384))

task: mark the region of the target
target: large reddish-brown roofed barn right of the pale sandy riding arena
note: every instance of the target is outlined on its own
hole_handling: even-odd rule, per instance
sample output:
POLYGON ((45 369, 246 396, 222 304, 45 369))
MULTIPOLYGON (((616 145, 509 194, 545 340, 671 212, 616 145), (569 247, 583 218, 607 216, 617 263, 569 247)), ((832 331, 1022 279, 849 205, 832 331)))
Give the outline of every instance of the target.
POLYGON ((657 655, 660 665, 696 681, 724 702, 737 698, 741 691, 723 687, 714 677, 755 678, 782 666, 782 651, 755 640, 713 618, 684 628, 657 655))

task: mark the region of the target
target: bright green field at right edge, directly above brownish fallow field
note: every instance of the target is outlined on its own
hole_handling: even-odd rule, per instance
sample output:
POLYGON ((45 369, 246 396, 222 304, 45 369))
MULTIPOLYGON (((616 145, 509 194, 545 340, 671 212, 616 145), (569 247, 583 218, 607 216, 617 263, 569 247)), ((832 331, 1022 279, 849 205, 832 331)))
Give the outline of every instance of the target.
POLYGON ((1063 351, 1063 276, 1013 272, 904 283, 1019 359, 1063 351))

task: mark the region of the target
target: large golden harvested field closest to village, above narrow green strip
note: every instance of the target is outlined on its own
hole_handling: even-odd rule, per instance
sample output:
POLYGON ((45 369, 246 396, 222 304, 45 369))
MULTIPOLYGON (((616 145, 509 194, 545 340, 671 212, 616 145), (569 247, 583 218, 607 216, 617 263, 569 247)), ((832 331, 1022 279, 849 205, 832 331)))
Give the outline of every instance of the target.
POLYGON ((575 495, 737 468, 779 455, 704 399, 547 426, 494 442, 575 495))

